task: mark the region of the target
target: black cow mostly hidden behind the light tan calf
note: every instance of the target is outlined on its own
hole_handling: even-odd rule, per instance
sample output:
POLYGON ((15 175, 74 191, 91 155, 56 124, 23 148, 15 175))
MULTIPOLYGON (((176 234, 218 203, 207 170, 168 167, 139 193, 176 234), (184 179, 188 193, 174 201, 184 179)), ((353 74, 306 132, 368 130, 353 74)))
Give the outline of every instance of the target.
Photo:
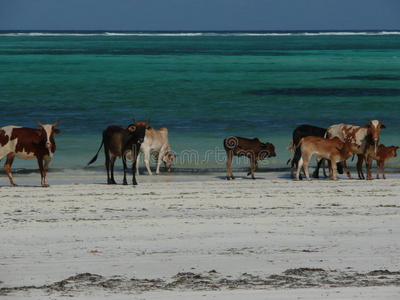
MULTIPOLYGON (((292 161, 292 164, 290 166, 290 173, 291 173, 290 175, 292 178, 294 178, 293 167, 294 167, 294 165, 296 165, 296 169, 297 169, 299 159, 301 158, 300 147, 297 147, 299 145, 300 140, 307 136, 316 136, 316 137, 323 138, 325 136, 325 134, 326 134, 325 128, 312 126, 312 125, 300 125, 293 131, 293 139, 291 141, 291 146, 295 147, 296 150, 294 152, 293 159, 289 158, 289 160, 287 161, 287 163, 289 163, 290 160, 292 161)), ((317 168, 314 170, 314 173, 313 173, 314 178, 319 177, 319 168, 321 167, 322 163, 323 163, 323 159, 319 161, 319 163, 317 164, 317 168)), ((343 168, 340 163, 337 165, 337 168, 338 168, 339 174, 343 174, 343 168)), ((324 170, 324 176, 327 177, 325 174, 325 170, 324 170)), ((300 179, 301 179, 301 176, 300 176, 300 179)))

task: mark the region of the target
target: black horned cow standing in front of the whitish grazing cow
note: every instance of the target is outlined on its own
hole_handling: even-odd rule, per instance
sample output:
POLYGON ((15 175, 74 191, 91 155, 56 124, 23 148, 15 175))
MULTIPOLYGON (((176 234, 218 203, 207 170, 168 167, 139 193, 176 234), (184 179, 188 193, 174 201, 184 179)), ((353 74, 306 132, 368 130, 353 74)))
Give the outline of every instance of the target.
POLYGON ((128 127, 120 125, 110 125, 106 130, 103 131, 103 139, 100 144, 100 148, 92 160, 87 164, 89 166, 96 161, 97 156, 104 144, 105 154, 105 165, 107 170, 107 184, 116 184, 114 180, 114 163, 117 157, 122 158, 122 164, 124 167, 124 179, 123 185, 127 185, 126 172, 128 170, 126 160, 132 160, 132 185, 137 185, 135 170, 137 156, 139 154, 140 145, 144 141, 146 134, 146 125, 150 122, 150 119, 146 122, 136 122, 133 119, 133 124, 128 127), (110 159, 111 155, 111 159, 110 159))

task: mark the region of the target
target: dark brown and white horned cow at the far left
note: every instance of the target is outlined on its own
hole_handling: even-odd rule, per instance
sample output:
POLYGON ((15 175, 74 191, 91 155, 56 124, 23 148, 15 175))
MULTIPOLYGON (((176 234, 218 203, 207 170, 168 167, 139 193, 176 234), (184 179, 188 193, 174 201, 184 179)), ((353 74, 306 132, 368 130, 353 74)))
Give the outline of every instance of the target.
POLYGON ((36 122, 41 127, 40 129, 14 125, 0 129, 0 160, 7 156, 4 169, 12 186, 17 186, 11 174, 11 166, 15 157, 22 159, 36 158, 42 187, 50 186, 47 183, 46 174, 54 152, 56 152, 54 134, 60 133, 60 130, 54 127, 60 123, 60 120, 52 125, 43 125, 38 119, 36 119, 36 122))

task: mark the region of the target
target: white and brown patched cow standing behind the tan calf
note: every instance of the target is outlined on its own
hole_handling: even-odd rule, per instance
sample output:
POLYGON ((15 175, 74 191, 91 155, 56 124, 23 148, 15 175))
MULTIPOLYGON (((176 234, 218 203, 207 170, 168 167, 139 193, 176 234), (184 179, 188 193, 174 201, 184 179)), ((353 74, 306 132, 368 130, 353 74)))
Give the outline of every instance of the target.
MULTIPOLYGON (((386 129, 386 126, 382 124, 382 121, 378 120, 369 121, 369 123, 363 127, 338 124, 328 128, 327 137, 338 137, 342 142, 350 142, 352 145, 352 152, 359 157, 357 162, 359 177, 361 178, 362 163, 365 159, 367 165, 367 180, 372 180, 372 159, 376 156, 381 129, 386 129)), ((343 168, 347 176, 353 179, 345 161, 343 162, 343 168)))

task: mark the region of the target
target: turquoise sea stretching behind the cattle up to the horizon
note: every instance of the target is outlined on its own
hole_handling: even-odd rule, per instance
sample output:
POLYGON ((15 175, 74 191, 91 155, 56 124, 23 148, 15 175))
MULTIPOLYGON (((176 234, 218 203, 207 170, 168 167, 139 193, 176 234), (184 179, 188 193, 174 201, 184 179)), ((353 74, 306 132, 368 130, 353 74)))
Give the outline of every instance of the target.
POLYGON ((400 32, 3 31, 0 107, 0 127, 61 118, 52 170, 83 169, 102 131, 132 118, 168 128, 175 172, 225 170, 230 135, 273 143, 260 167, 282 169, 301 124, 378 119, 400 145, 400 32))

